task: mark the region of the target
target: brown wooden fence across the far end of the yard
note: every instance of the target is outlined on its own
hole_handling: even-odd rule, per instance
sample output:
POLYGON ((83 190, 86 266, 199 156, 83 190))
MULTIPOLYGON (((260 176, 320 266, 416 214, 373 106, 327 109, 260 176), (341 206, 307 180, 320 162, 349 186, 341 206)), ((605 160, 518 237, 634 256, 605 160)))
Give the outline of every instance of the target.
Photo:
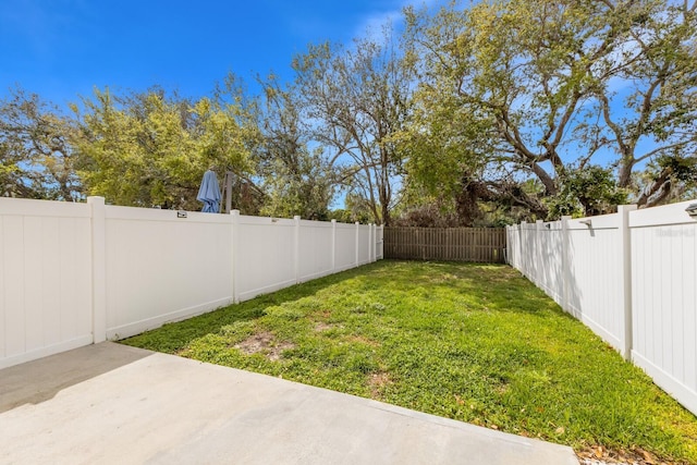
POLYGON ((504 228, 386 228, 384 258, 504 261, 504 228))

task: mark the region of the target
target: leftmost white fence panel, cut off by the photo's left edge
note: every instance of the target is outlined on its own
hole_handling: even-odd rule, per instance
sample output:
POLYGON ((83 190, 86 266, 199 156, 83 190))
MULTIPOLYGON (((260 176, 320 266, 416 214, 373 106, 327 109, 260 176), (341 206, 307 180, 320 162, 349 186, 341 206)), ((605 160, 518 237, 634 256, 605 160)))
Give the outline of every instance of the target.
POLYGON ((89 207, 0 198, 0 368, 91 343, 89 207))

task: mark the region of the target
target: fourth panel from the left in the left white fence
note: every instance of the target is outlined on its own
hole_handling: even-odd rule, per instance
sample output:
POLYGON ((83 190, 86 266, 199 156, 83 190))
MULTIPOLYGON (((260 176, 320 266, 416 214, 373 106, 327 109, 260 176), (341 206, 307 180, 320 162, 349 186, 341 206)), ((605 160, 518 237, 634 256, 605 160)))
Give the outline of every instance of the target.
POLYGON ((332 272, 333 224, 307 220, 299 222, 298 281, 309 281, 332 272))

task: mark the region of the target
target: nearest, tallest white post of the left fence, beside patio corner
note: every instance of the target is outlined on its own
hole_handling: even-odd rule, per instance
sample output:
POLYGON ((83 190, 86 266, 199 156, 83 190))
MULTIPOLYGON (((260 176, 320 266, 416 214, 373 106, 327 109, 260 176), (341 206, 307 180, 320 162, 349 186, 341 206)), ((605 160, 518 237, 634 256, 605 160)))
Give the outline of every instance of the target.
POLYGON ((91 217, 91 336, 107 340, 107 245, 103 197, 87 197, 91 217))

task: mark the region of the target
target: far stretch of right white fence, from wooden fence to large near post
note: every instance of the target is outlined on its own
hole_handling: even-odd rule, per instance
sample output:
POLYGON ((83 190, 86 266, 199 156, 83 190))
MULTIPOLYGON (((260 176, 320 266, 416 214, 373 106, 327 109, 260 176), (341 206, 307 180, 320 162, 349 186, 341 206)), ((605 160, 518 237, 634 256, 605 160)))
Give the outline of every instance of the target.
POLYGON ((564 310, 623 351, 623 269, 620 215, 535 224, 508 230, 509 264, 564 310))

